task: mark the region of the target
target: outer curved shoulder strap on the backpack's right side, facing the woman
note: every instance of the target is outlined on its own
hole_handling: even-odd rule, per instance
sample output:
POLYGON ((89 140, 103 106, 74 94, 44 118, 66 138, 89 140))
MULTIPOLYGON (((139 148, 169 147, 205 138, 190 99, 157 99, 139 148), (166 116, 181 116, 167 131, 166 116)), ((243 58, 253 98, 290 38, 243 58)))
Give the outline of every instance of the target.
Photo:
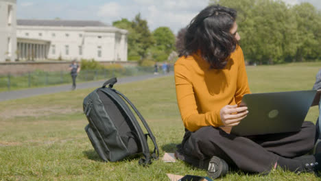
MULTIPOLYGON (((145 119, 143 118, 143 116, 141 115, 141 113, 136 109, 136 107, 134 106, 134 104, 132 104, 132 102, 122 93, 120 93, 119 91, 113 89, 115 91, 115 93, 117 93, 118 95, 120 95, 121 97, 123 97, 123 99, 125 99, 128 104, 130 104, 130 106, 132 107, 132 109, 136 112, 136 114, 139 116, 139 119, 141 119, 141 122, 143 123, 143 125, 145 126, 148 134, 145 134, 147 136, 150 136, 150 138, 152 139, 152 142, 154 144, 154 152, 152 154, 152 158, 154 158, 155 160, 158 160, 159 158, 159 150, 158 150, 158 146, 156 144, 156 138, 154 137, 154 134, 152 133, 152 130, 150 130, 150 127, 147 125, 145 119)), ((147 141, 147 136, 146 136, 146 141, 147 141)))

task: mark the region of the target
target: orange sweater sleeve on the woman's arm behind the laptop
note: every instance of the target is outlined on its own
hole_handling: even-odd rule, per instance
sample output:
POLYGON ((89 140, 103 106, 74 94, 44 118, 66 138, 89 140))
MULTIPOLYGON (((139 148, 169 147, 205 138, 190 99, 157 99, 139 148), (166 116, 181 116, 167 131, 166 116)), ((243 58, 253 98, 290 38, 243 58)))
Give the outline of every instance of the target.
POLYGON ((239 68, 237 72, 237 90, 235 92, 235 101, 239 105, 242 101, 243 95, 250 94, 250 88, 248 86, 248 75, 246 74, 246 67, 244 62, 243 51, 241 47, 238 47, 238 62, 239 68))

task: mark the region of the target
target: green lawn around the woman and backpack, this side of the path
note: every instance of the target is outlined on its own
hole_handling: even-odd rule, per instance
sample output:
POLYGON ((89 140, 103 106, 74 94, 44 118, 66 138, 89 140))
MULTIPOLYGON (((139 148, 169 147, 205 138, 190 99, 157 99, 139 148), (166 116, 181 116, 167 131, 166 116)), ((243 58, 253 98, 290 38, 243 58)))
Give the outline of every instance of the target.
MULTIPOLYGON (((321 63, 247 67, 252 93, 309 90, 321 63)), ((184 127, 176 104, 174 77, 115 85, 135 104, 156 136, 160 156, 174 152, 184 127)), ((169 180, 166 173, 206 176, 178 161, 138 159, 102 162, 84 132, 82 101, 94 88, 0 102, 0 180, 169 180)), ((318 108, 306 120, 316 122, 318 108)), ((150 149, 152 149, 150 143, 150 149)), ((272 171, 268 176, 230 173, 222 180, 318 180, 272 171)))

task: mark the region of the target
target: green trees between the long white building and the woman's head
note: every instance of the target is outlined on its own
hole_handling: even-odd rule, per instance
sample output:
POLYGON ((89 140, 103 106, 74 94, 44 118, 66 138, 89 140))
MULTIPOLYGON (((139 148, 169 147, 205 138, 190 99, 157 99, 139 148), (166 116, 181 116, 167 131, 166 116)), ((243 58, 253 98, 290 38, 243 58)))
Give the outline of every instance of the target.
POLYGON ((132 21, 121 19, 114 21, 112 25, 128 30, 128 60, 154 64, 153 61, 167 60, 171 51, 175 50, 176 37, 171 29, 158 27, 150 32, 147 21, 141 19, 141 14, 137 14, 132 21))

